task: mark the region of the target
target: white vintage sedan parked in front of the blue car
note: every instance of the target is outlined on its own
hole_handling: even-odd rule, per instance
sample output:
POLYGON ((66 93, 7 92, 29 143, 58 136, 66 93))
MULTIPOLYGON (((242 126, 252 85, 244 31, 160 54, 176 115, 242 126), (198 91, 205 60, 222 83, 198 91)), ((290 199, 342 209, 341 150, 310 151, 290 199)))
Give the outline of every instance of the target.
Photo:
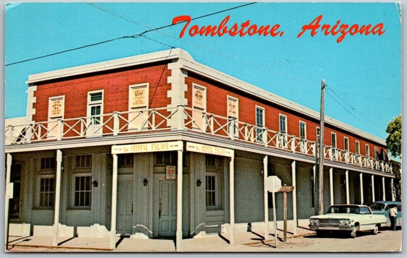
POLYGON ((355 238, 358 231, 370 231, 376 235, 379 227, 386 224, 386 217, 373 214, 365 205, 332 205, 327 214, 312 216, 309 223, 309 228, 317 235, 347 231, 355 238))

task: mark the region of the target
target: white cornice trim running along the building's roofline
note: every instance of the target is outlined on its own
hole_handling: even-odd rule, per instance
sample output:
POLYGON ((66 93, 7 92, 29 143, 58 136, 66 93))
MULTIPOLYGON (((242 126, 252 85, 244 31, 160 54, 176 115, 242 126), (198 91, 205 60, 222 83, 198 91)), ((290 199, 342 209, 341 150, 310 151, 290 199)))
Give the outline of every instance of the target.
MULTIPOLYGON (((44 80, 58 79, 58 78, 63 78, 63 77, 68 77, 68 76, 74 76, 74 75, 80 75, 80 74, 86 74, 86 73, 92 73, 92 72, 100 72, 100 71, 105 71, 105 70, 112 70, 112 69, 118 69, 118 68, 123 68, 123 67, 148 64, 148 63, 159 62, 159 61, 163 61, 163 60, 171 60, 171 59, 180 59, 182 68, 187 71, 191 71, 191 72, 197 73, 199 75, 202 75, 204 77, 208 77, 215 81, 226 84, 229 87, 232 87, 232 88, 238 89, 240 91, 243 91, 247 94, 253 95, 257 98, 273 102, 273 103, 278 104, 289 110, 294 110, 296 112, 303 113, 306 116, 309 116, 313 119, 319 120, 319 112, 312 110, 310 108, 307 108, 305 106, 302 106, 300 104, 297 104, 293 101, 282 98, 280 96, 277 96, 275 94, 272 94, 266 90, 260 89, 260 88, 256 87, 255 85, 252 85, 243 80, 240 80, 238 78, 235 78, 233 76, 220 72, 216 69, 213 69, 206 65, 200 64, 200 63, 196 62, 187 51, 185 51, 181 48, 168 49, 168 50, 159 51, 159 52, 130 56, 128 58, 116 59, 116 60, 111 60, 111 61, 106 61, 106 62, 95 63, 95 64, 76 66, 76 67, 70 67, 70 68, 61 69, 61 70, 33 74, 33 75, 28 76, 28 80, 26 81, 26 83, 31 84, 31 83, 35 83, 35 82, 39 82, 39 81, 44 81, 44 80)), ((345 131, 355 133, 366 139, 375 141, 381 145, 386 146, 385 140, 383 140, 379 137, 376 137, 374 135, 371 135, 369 133, 366 133, 364 131, 361 131, 353 126, 347 125, 336 119, 325 116, 325 123, 338 127, 345 131)))

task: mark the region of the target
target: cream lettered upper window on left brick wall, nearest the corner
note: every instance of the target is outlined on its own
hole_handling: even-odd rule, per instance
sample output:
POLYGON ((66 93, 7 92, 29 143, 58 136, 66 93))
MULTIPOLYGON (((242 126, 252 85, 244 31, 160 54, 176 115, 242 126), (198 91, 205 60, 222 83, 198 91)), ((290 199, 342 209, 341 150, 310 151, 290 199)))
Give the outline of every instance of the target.
POLYGON ((129 129, 148 128, 149 83, 129 86, 129 129))

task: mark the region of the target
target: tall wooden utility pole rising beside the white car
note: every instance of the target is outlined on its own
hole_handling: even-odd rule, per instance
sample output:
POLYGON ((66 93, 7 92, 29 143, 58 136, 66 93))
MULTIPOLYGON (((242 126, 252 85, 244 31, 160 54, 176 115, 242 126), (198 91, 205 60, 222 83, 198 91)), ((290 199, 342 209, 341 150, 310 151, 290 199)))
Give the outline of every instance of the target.
POLYGON ((319 125, 318 214, 324 214, 324 107, 325 79, 321 83, 321 124, 319 125))

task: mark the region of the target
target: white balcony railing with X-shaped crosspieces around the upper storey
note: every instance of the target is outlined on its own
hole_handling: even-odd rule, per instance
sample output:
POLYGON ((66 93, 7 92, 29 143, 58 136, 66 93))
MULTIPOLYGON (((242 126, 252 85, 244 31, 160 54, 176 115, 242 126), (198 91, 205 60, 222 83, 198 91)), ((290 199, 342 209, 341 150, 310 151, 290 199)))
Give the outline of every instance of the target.
MULTIPOLYGON (((18 145, 39 141, 114 136, 173 129, 195 131, 315 158, 319 155, 318 145, 314 141, 184 106, 113 112, 93 117, 11 125, 5 128, 5 139, 6 145, 18 145), (171 122, 169 122, 170 120, 171 122)), ((339 150, 332 146, 324 146, 324 158, 393 173, 393 167, 388 162, 339 150)))

